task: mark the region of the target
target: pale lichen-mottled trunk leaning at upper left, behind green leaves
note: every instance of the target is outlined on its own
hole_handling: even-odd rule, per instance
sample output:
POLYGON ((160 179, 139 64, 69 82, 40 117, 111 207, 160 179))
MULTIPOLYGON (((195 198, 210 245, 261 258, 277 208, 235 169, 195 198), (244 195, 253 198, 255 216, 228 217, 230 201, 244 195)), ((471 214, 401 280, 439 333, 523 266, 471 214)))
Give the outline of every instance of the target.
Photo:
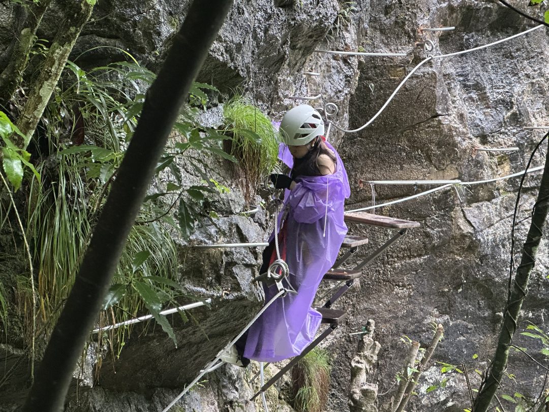
POLYGON ((26 136, 25 138, 13 134, 12 142, 15 146, 25 149, 44 113, 49 98, 59 81, 61 72, 65 68, 69 54, 82 27, 92 14, 95 0, 80 0, 75 8, 69 12, 55 35, 44 62, 42 71, 31 88, 29 99, 25 103, 23 112, 19 116, 17 126, 26 136))

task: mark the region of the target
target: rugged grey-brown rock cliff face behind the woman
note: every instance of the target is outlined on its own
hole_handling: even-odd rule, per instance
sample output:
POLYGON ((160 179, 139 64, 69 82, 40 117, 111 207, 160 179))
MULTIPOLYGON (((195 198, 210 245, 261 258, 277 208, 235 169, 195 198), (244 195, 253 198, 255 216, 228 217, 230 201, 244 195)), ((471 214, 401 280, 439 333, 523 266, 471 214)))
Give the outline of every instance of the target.
MULTIPOLYGON (((150 68, 158 68, 189 3, 99 1, 94 10, 97 21, 86 25, 71 58, 93 47, 108 46, 83 54, 76 63, 86 67, 125 59, 114 46, 129 51, 150 68)), ((212 83, 223 93, 241 87, 274 120, 280 120, 295 104, 288 96, 321 93, 312 104, 323 107, 336 103, 339 113, 330 119, 344 129, 356 128, 371 119, 405 76, 427 57, 421 47, 415 47, 416 42, 432 41, 431 53, 436 56, 481 46, 532 27, 500 4, 477 0, 356 0, 357 10, 350 6, 337 0, 236 1, 198 80, 212 83), (419 30, 441 25, 455 26, 455 30, 419 30), (356 51, 359 47, 367 52, 403 52, 406 57, 357 58, 314 52, 356 51), (303 75, 304 71, 320 76, 303 75)), ((542 15, 544 10, 539 7, 530 7, 529 13, 542 15)), ((44 18, 39 38, 53 37, 58 16, 59 9, 53 8, 44 18)), ((16 13, 0 4, 0 26, 9 27, 15 19, 16 13)), ((10 40, 0 30, 0 51, 10 40)), ((523 126, 547 124, 548 57, 547 33, 542 28, 495 47, 435 58, 410 77, 366 129, 344 134, 332 128, 329 140, 338 148, 351 182, 347 209, 372 204, 371 187, 359 180, 469 182, 524 170, 542 134, 523 130, 523 126), (515 146, 519 151, 477 149, 515 146)), ((543 164, 546 150, 544 145, 534 156, 534 166, 543 164)), ((180 166, 189 181, 200 179, 186 170, 185 164, 180 166)), ((486 369, 507 296, 510 231, 519 182, 520 177, 515 177, 448 188, 376 209, 379 214, 418 221, 421 227, 411 230, 367 266, 360 282, 338 301, 336 308, 349 311, 350 316, 325 342, 333 354, 328 410, 349 410, 349 364, 356 342, 349 333, 360 330, 370 318, 376 320, 376 337, 382 345, 374 380, 368 383, 372 387, 365 387, 370 394, 375 385, 380 393, 393 385, 406 352, 400 337, 410 336, 426 346, 432 337, 430 322, 445 327, 445 340, 433 356, 435 361, 486 369), (473 359, 474 354, 478 358, 473 359)), ((518 220, 526 218, 533 207, 537 185, 539 174, 526 178, 518 220)), ((380 204, 432 187, 376 185, 374 189, 380 204)), ((219 233, 209 227, 195 235, 195 242, 206 238, 211 242, 210 235, 216 240, 243 242, 268 236, 263 211, 254 218, 232 216, 243 210, 242 198, 220 199, 218 207, 225 213, 222 225, 229 235, 215 237, 219 233)), ((525 220, 517 226, 516 261, 528 225, 529 220, 525 220)), ((394 234, 356 224, 349 225, 349 232, 369 238, 368 249, 359 250, 353 262, 365 258, 394 234)), ((198 253, 182 247, 183 253, 182 282, 195 293, 217 299, 212 311, 204 310, 199 316, 203 325, 210 327, 211 340, 204 341, 193 325, 180 325, 177 350, 161 334, 132 339, 114 365, 116 374, 110 365, 103 365, 99 386, 86 389, 78 399, 71 398, 68 410, 161 410, 259 308, 259 292, 249 284, 257 270, 259 252, 198 253), (228 298, 221 296, 223 291, 228 298)), ((525 329, 525 321, 544 330, 549 327, 548 255, 544 241, 519 329, 525 329)), ((517 336, 516 344, 535 348, 533 339, 525 336, 517 336)), ((530 352, 543 360, 534 349, 530 352)), ((463 376, 441 374, 440 368, 428 366, 419 382, 419 396, 412 398, 408 409, 456 412, 469 408, 463 376), (450 381, 444 388, 427 393, 429 386, 446 378, 450 381)), ((506 378, 501 393, 537 397, 545 376, 541 370, 522 354, 513 353, 508 371, 517 379, 506 378)), ((189 412, 256 409, 256 404, 246 400, 251 389, 244 383, 241 370, 221 368, 208 379, 177 407, 189 412)), ((478 387, 478 380, 472 379, 473 387, 478 387)), ((380 398, 380 402, 387 400, 380 398)))

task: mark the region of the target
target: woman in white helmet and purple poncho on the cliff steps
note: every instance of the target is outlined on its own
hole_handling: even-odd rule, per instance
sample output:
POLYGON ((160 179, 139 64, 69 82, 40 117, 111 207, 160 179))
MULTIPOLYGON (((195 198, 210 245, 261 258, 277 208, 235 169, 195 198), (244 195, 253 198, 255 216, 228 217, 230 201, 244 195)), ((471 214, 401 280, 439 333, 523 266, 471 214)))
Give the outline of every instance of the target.
MULTIPOLYGON (((283 283, 298 293, 275 300, 221 358, 239 366, 247 366, 250 359, 276 362, 294 357, 313 341, 322 316, 311 305, 347 233, 343 206, 349 181, 341 158, 323 136, 321 115, 309 105, 299 105, 284 115, 279 131, 279 158, 291 171, 289 176, 270 177, 276 188, 285 189, 277 218, 279 249, 290 272, 283 283)), ((277 259, 274 237, 275 232, 263 252, 260 273, 277 259)), ((268 302, 278 290, 263 287, 268 302)))

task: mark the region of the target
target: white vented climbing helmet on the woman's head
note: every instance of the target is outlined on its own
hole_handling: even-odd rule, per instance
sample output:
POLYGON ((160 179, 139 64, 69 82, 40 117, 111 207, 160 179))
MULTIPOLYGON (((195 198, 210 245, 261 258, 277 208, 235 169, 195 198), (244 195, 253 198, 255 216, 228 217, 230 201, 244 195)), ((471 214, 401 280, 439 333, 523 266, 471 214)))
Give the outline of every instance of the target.
POLYGON ((324 121, 310 105, 301 104, 286 112, 279 130, 284 143, 302 146, 324 134, 324 121))

